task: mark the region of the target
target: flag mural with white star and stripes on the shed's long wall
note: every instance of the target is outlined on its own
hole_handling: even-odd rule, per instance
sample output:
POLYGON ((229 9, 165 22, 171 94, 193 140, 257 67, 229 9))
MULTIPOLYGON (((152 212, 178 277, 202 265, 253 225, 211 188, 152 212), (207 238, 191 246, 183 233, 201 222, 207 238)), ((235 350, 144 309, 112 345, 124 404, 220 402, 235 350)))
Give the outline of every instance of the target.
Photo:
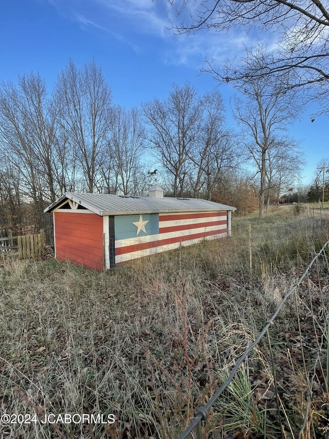
POLYGON ((227 234, 227 212, 185 212, 115 217, 115 263, 227 234))

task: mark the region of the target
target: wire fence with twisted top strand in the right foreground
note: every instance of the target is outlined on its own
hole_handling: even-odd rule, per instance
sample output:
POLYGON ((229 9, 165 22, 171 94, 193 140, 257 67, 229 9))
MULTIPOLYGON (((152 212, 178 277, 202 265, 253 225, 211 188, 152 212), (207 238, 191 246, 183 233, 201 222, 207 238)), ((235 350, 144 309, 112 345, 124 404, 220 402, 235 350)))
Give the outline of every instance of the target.
MULTIPOLYGON (((267 352, 272 372, 272 389, 275 394, 276 403, 276 425, 281 437, 293 438, 328 437, 329 434, 329 325, 328 325, 328 303, 329 303, 329 241, 313 257, 307 265, 298 282, 282 298, 271 318, 259 332, 259 335, 248 346, 245 352, 237 359, 227 379, 220 385, 216 393, 204 405, 198 407, 195 417, 188 428, 182 432, 179 439, 185 439, 191 434, 197 439, 210 437, 207 429, 203 429, 209 419, 210 411, 215 410, 216 402, 223 397, 225 390, 231 385, 237 371, 255 346, 262 342, 262 350, 267 352), (283 342, 282 335, 271 333, 275 326, 274 322, 280 315, 282 308, 287 305, 293 308, 295 319, 293 325, 296 329, 291 340, 283 342), (267 337, 265 337, 267 336, 267 337), (266 340, 267 339, 267 340, 266 340), (290 343, 290 345, 289 345, 290 343), (273 347, 275 346, 275 347, 273 347), (279 346, 279 347, 278 347, 279 346), (291 357, 295 353, 295 360, 291 360, 294 373, 300 383, 303 383, 303 412, 300 413, 299 431, 294 430, 289 422, 287 414, 287 401, 284 399, 282 387, 283 376, 278 367, 281 352, 285 350, 291 357), (280 376, 278 376, 278 374, 280 376), (322 398, 322 399, 321 399, 322 398), (314 416, 314 414, 317 416, 314 416), (204 432, 207 431, 205 435, 204 432)), ((282 323, 282 322, 281 322, 282 323)), ((291 330, 291 329, 290 329, 291 330)), ((288 391, 286 390, 286 395, 288 391)), ((255 401, 255 405, 257 405, 255 401)), ((223 407, 223 406, 222 406, 223 407)), ((220 413, 221 415, 221 413, 220 413)), ((225 413, 222 413, 223 428, 225 425, 225 413)), ((250 432, 249 432, 250 434, 250 432)), ((214 437, 224 437, 214 436, 214 437)), ((233 437, 233 436, 227 436, 233 437)), ((239 436, 240 437, 240 436, 239 436)), ((248 436, 244 436, 248 437, 248 436)), ((268 437, 275 437, 270 436, 268 437)))

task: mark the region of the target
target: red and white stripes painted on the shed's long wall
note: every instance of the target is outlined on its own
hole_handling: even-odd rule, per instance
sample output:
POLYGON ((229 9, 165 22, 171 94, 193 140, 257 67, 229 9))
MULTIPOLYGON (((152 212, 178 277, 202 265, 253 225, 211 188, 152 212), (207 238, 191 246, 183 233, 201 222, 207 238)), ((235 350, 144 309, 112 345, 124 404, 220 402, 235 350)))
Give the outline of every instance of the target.
POLYGON ((223 236, 227 236, 226 212, 159 214, 159 234, 115 242, 116 264, 223 236))

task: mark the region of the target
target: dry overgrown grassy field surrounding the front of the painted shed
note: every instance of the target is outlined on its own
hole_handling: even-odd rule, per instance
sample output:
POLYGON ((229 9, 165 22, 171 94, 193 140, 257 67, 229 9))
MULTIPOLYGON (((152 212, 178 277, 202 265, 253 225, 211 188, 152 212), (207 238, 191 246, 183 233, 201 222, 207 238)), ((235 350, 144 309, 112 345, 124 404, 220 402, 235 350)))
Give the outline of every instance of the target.
MULTIPOLYGON (((329 239, 327 216, 313 216, 290 208, 236 218, 230 238, 107 273, 51 256, 0 259, 0 413, 10 416, 0 437, 177 438, 329 239), (75 417, 65 423, 65 413, 75 417)), ((327 336, 320 318, 307 317, 309 306, 324 314, 329 295, 327 262, 319 264, 310 303, 303 291, 298 299, 307 358, 317 356, 322 371, 312 375, 312 401, 289 302, 271 330, 281 413, 264 342, 211 410, 203 437, 281 437, 280 415, 287 438, 303 422, 301 437, 326 437, 327 336), (321 349, 312 348, 321 334, 321 349)))

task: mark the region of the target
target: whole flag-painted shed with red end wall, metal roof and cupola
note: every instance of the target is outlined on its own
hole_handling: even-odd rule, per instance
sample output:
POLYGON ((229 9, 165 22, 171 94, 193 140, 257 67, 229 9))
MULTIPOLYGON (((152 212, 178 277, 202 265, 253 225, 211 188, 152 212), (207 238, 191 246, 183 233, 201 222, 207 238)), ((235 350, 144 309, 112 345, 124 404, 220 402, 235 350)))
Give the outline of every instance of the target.
POLYGON ((203 199, 66 192, 53 214, 55 257, 97 270, 231 233, 235 207, 203 199))

